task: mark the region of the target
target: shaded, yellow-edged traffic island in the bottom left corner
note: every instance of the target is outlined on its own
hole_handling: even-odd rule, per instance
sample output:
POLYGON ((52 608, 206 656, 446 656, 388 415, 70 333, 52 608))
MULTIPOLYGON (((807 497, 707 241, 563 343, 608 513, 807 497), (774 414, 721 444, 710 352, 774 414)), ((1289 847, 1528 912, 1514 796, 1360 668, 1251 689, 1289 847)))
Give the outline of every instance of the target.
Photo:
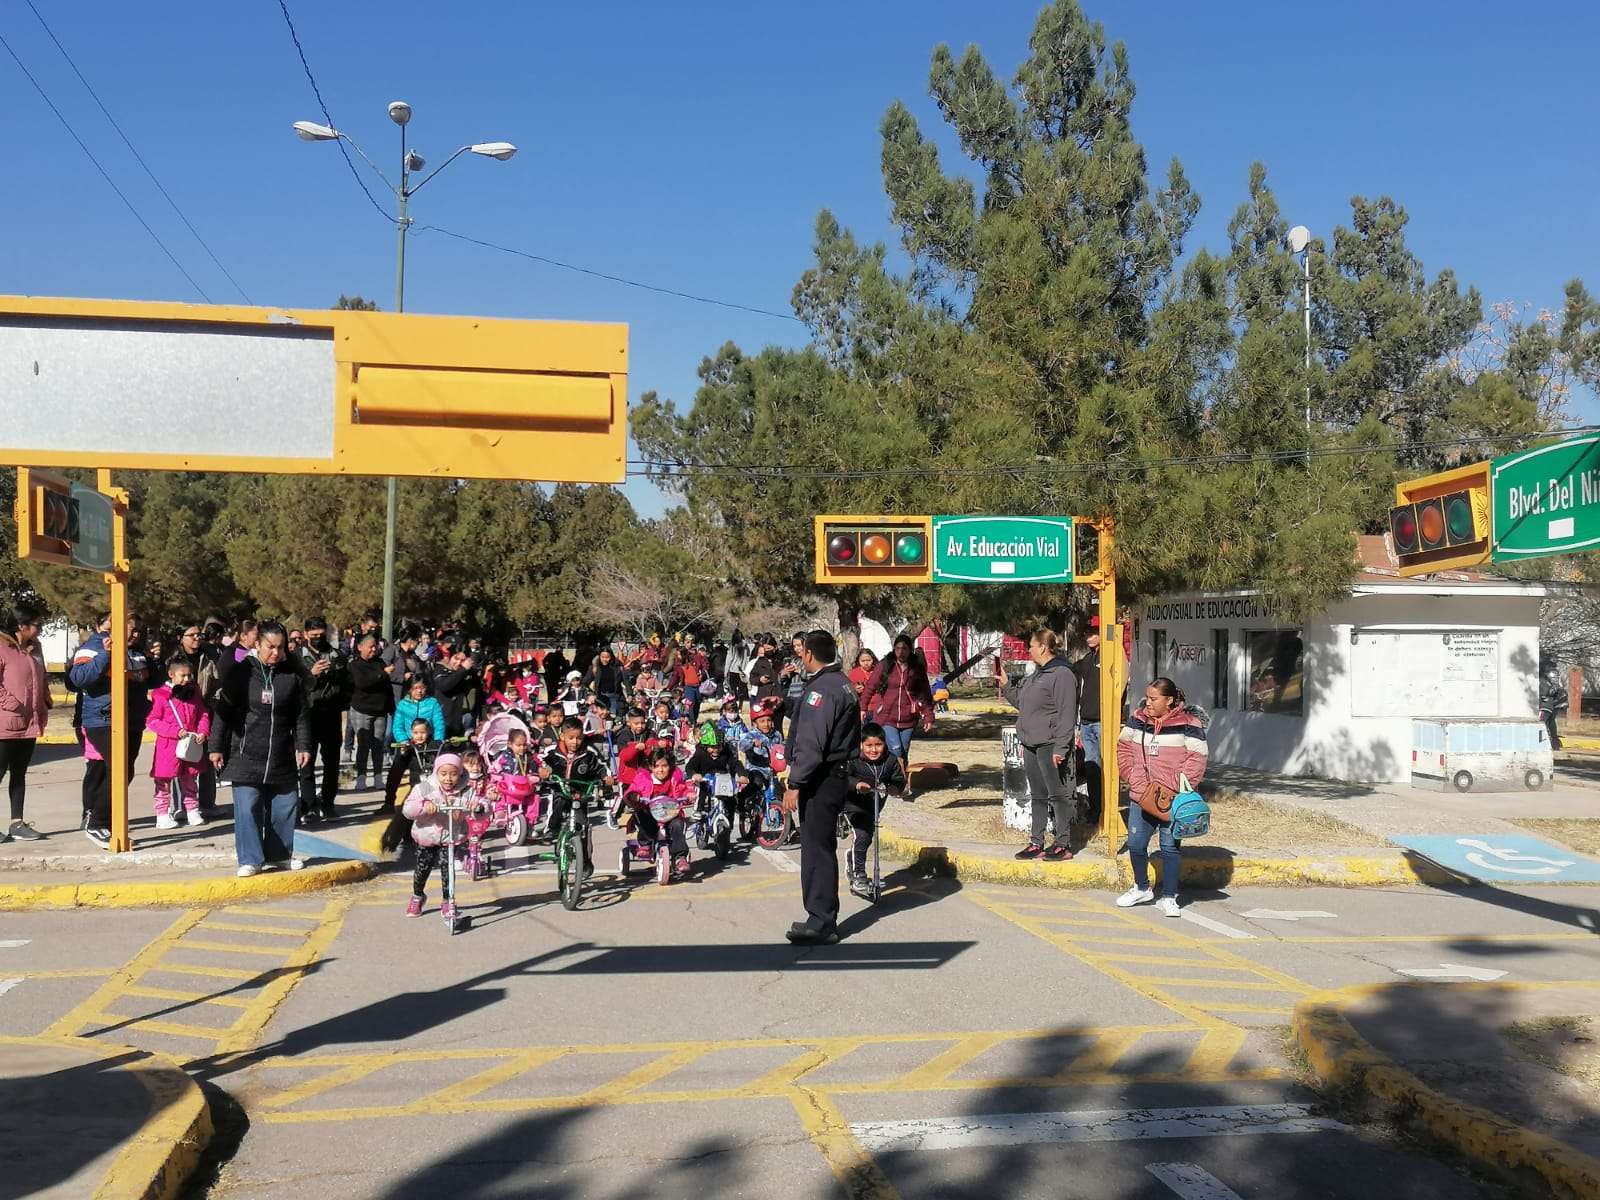
POLYGON ((94 1200, 179 1194, 213 1125, 205 1094, 178 1062, 82 1038, 5 1037, 0 1046, 0 1086, 13 1101, 0 1106, 0 1141, 18 1195, 59 1187, 94 1200))

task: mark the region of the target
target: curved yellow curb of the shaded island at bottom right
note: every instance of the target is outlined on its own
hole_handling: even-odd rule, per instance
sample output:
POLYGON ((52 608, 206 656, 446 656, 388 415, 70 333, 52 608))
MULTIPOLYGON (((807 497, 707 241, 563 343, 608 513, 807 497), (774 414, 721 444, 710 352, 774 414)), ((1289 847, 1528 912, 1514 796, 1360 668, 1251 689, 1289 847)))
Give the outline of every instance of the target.
POLYGON ((1421 1120, 1429 1133, 1472 1158, 1510 1171, 1538 1173, 1555 1195, 1600 1197, 1600 1160, 1435 1091, 1362 1038, 1344 1016, 1344 1008, 1365 992, 1371 989, 1318 992, 1294 1005, 1294 1038, 1323 1082, 1366 1088, 1389 1109, 1421 1120))

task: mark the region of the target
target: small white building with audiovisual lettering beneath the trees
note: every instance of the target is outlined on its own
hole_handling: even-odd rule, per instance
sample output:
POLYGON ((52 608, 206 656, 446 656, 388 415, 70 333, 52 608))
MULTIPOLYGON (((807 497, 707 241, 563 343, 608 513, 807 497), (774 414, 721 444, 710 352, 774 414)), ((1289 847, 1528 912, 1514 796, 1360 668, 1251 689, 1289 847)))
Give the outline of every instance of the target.
POLYGON ((1210 712, 1211 762, 1358 782, 1410 781, 1413 717, 1538 717, 1542 584, 1402 579, 1386 538, 1360 555, 1350 595, 1299 626, 1254 590, 1144 605, 1130 702, 1168 675, 1210 712))

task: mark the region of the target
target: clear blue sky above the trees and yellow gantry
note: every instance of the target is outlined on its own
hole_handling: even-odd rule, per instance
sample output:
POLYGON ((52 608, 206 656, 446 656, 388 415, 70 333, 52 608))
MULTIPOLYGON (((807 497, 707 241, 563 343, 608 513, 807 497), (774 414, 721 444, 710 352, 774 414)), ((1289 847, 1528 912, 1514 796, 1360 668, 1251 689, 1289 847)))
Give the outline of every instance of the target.
MULTIPOLYGON (((258 304, 322 307, 360 291, 390 307, 394 232, 331 146, 275 0, 130 6, 35 0, 146 160, 258 304)), ((928 58, 976 42, 1010 77, 1037 3, 312 5, 301 40, 342 128, 390 166, 384 107, 416 110, 432 162, 509 139, 510 163, 464 158, 413 202, 440 224, 571 262, 787 312, 811 224, 832 208, 893 238, 877 123, 896 98, 925 130, 928 58)), ((1128 45, 1134 130, 1152 168, 1179 155, 1219 246, 1250 162, 1285 213, 1326 235, 1349 197, 1411 213, 1430 272, 1486 301, 1557 306, 1600 288, 1600 6, 1171 0, 1091 3, 1128 45)), ((144 178, 27 11, 6 40, 216 301, 238 296, 144 178)), ((8 56, 0 290, 198 299, 83 158, 8 56)), ((630 325, 637 397, 686 402, 723 341, 798 341, 794 322, 691 304, 421 234, 406 307, 630 325)), ((1600 418, 1584 403, 1581 416, 1600 418)), ((646 512, 650 488, 629 486, 646 512)))

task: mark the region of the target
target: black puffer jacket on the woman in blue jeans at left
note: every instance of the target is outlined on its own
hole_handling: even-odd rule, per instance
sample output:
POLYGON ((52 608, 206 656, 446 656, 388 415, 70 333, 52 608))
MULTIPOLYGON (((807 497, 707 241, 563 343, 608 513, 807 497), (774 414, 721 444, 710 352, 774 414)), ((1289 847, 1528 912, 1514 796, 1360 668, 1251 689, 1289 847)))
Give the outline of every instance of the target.
POLYGON ((267 667, 256 658, 227 667, 210 750, 227 760, 222 779, 230 784, 293 787, 299 781, 294 754, 310 750, 310 709, 299 672, 286 661, 267 667))

